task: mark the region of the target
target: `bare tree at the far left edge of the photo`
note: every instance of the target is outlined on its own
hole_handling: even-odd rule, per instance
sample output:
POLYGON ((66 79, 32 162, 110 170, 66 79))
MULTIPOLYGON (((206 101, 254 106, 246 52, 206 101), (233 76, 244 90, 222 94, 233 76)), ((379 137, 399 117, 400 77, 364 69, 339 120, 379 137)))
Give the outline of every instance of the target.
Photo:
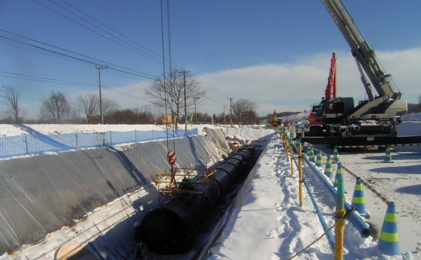
POLYGON ((6 114, 11 121, 18 123, 22 111, 19 106, 19 98, 22 94, 21 90, 12 85, 3 85, 0 88, 0 103, 6 105, 6 114))

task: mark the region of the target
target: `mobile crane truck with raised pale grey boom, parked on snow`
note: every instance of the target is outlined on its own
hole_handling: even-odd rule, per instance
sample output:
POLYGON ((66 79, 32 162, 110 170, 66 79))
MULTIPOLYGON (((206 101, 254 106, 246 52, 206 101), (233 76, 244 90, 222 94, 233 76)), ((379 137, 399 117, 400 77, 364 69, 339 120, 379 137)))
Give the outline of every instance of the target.
POLYGON ((340 146, 420 143, 421 137, 398 137, 396 123, 408 110, 392 76, 378 62, 375 51, 363 37, 342 0, 321 0, 351 48, 367 99, 354 106, 352 97, 323 99, 315 120, 326 123, 323 137, 305 137, 304 142, 340 146), (365 73, 364 73, 365 72, 365 73), (372 87, 377 92, 373 95, 372 87))

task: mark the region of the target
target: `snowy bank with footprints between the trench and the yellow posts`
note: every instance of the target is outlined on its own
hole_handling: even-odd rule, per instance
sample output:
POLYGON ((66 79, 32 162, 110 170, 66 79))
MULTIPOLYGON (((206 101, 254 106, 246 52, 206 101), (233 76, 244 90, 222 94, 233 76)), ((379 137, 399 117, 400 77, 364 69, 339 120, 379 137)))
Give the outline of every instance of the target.
MULTIPOLYGON (((291 175, 290 160, 277 135, 272 136, 255 167, 248 192, 234 209, 209 259, 288 259, 324 233, 306 191, 303 205, 299 206, 298 171, 295 167, 291 175)), ((319 207, 328 226, 333 226, 334 207, 322 204, 319 207)), ((361 238, 350 222, 345 227, 344 253, 346 259, 373 259, 382 255, 377 244, 370 238, 361 238)), ((298 256, 298 259, 331 258, 333 252, 326 237, 298 256)))

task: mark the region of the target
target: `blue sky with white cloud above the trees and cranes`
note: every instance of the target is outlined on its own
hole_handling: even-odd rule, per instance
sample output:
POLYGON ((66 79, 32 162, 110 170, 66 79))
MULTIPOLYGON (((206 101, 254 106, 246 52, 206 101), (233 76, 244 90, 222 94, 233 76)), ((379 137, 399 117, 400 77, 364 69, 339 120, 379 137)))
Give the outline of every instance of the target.
MULTIPOLYGON (((172 66, 191 71, 207 91, 198 111, 228 111, 228 97, 258 103, 260 114, 309 109, 324 93, 333 52, 338 95, 364 98, 349 46, 319 0, 169 3, 172 66)), ((417 102, 421 1, 345 4, 403 98, 417 102)), ((163 13, 167 15, 166 8, 163 13)), ((51 91, 73 99, 98 93, 95 64, 109 64, 132 74, 102 70, 103 96, 121 107, 149 105, 145 88, 150 78, 163 73, 160 15, 160 1, 0 0, 0 85, 23 90, 22 106, 33 118, 39 101, 51 91), (97 61, 63 59, 15 40, 97 61)), ((164 28, 168 59, 166 24, 164 28)))

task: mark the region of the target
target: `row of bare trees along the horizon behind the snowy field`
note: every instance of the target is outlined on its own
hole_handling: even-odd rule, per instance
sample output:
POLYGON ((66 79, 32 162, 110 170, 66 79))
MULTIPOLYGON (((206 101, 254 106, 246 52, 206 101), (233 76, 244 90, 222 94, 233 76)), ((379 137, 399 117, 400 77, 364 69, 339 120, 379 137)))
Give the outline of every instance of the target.
POLYGON ((26 112, 20 107, 22 90, 13 85, 2 85, 0 104, 4 107, 1 109, 0 123, 162 124, 164 114, 174 118, 175 127, 178 127, 178 123, 185 123, 186 119, 194 123, 259 123, 256 112, 258 105, 243 98, 232 104, 232 112, 229 114, 209 115, 199 112, 197 107, 206 92, 201 89, 196 78, 186 72, 173 69, 154 80, 145 90, 151 105, 131 109, 122 109, 116 101, 100 98, 95 93, 79 94, 72 100, 65 93, 53 91, 41 97, 37 119, 25 118, 26 112), (161 112, 156 112, 153 107, 159 108, 161 112), (187 118, 185 110, 189 111, 187 118))

